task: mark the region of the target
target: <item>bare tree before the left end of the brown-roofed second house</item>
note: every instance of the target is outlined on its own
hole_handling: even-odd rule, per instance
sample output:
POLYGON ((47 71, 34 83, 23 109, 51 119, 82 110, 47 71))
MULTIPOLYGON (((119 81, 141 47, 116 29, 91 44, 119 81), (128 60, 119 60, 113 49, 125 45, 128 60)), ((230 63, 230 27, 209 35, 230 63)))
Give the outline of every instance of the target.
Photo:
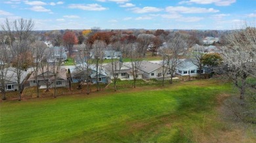
POLYGON ((32 59, 33 59, 33 76, 35 77, 35 82, 37 83, 37 97, 39 97, 39 82, 37 80, 38 72, 45 56, 46 44, 41 41, 36 41, 32 44, 32 59))

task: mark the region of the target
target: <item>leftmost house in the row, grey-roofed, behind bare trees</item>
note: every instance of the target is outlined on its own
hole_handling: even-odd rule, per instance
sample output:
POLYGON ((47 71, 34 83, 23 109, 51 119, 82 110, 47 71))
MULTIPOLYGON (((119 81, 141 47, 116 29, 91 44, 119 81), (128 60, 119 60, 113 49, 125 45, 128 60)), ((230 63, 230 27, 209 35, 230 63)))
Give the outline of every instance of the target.
MULTIPOLYGON (((7 69, 4 69, 3 72, 7 71, 7 74, 5 75, 5 90, 6 91, 16 91, 18 90, 18 77, 17 74, 15 72, 15 69, 13 67, 9 67, 7 69)), ((20 76, 20 83, 23 82, 28 74, 28 72, 26 71, 21 71, 21 76, 20 76)), ((0 76, 3 76, 0 74, 0 76)), ((2 78, 2 77, 1 77, 2 78)), ((1 86, 1 83, 0 83, 1 86)))

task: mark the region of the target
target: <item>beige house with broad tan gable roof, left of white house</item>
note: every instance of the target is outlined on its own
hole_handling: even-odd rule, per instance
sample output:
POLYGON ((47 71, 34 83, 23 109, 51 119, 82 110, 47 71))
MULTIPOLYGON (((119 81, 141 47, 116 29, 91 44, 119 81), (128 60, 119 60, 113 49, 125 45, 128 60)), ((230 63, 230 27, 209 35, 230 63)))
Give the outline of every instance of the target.
MULTIPOLYGON (((131 63, 125 64, 127 67, 131 67, 131 63)), ((150 61, 141 61, 139 70, 142 71, 143 78, 161 78, 163 76, 163 67, 160 63, 152 63, 150 61)), ((170 71, 167 70, 165 77, 170 77, 170 71)))

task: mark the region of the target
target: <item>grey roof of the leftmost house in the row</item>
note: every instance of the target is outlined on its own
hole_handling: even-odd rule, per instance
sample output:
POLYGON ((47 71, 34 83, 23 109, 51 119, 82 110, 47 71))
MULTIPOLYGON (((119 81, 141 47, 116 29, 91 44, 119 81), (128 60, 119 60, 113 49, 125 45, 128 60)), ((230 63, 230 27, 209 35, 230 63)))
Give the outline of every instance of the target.
MULTIPOLYGON (((9 81, 17 84, 18 77, 16 74, 16 69, 14 67, 9 67, 9 68, 4 69, 4 72, 6 70, 7 70, 7 74, 5 75, 5 80, 9 80, 9 81)), ((22 70, 20 70, 20 71, 21 71, 20 82, 22 82, 26 78, 28 72, 22 71, 22 70)))

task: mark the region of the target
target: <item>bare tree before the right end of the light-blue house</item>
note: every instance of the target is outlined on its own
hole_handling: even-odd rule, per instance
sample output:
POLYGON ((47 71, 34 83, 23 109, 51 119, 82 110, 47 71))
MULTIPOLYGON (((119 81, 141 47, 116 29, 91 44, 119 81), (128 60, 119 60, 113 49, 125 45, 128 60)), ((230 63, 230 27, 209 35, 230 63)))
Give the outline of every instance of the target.
POLYGON ((104 48, 106 47, 106 43, 102 40, 96 40, 93 43, 93 58, 95 59, 95 66, 96 66, 96 84, 97 84, 97 91, 99 90, 99 82, 98 82, 98 75, 102 72, 102 63, 104 61, 104 48))

